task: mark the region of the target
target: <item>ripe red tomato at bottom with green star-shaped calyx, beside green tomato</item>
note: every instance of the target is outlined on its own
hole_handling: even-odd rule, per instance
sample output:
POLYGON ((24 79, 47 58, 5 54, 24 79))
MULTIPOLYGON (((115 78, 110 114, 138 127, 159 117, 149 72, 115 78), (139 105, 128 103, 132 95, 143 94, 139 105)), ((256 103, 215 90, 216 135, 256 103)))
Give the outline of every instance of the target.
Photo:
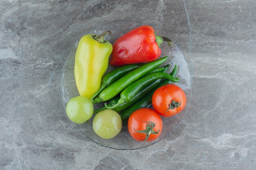
POLYGON ((128 119, 128 130, 137 141, 152 141, 162 132, 161 117, 150 108, 140 108, 133 112, 128 119))

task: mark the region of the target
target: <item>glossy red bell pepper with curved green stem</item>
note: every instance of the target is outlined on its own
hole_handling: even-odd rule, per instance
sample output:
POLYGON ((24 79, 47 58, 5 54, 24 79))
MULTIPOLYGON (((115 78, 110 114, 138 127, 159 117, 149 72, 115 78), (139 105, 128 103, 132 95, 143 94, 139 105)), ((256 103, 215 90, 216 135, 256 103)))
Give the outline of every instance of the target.
POLYGON ((156 60, 161 55, 160 44, 170 39, 155 34, 152 26, 144 25, 126 33, 115 41, 111 53, 111 66, 144 63, 156 60))

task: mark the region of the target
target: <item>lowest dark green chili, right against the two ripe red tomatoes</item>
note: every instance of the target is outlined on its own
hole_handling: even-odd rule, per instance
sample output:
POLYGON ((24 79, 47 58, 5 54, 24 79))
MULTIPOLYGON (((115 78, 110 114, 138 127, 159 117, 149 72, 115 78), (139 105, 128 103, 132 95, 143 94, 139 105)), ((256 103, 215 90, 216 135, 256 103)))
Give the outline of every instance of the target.
MULTIPOLYGON (((173 77, 175 77, 177 74, 177 66, 175 65, 175 67, 173 68, 173 71, 170 73, 170 75, 172 75, 173 77)), ((148 105, 151 104, 152 102, 152 96, 154 94, 154 92, 156 91, 157 88, 165 85, 165 84, 171 84, 172 82, 168 79, 165 79, 164 81, 162 81, 155 89, 153 89, 150 93, 148 93, 146 96, 144 96, 143 98, 141 98, 139 101, 137 101, 135 104, 133 104, 132 106, 130 106, 129 108, 127 108, 126 110, 124 110, 120 116, 122 118, 122 121, 125 122, 128 120, 129 116, 135 111, 138 110, 140 108, 146 108, 148 105)))

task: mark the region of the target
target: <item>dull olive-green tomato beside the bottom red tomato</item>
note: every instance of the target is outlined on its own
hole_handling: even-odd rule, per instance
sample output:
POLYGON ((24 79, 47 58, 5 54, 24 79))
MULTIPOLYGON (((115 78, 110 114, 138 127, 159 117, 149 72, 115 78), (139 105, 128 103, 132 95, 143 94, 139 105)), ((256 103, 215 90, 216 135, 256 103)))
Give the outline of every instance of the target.
POLYGON ((99 137, 111 139, 121 131, 121 116, 111 109, 100 111, 92 121, 92 128, 99 137))

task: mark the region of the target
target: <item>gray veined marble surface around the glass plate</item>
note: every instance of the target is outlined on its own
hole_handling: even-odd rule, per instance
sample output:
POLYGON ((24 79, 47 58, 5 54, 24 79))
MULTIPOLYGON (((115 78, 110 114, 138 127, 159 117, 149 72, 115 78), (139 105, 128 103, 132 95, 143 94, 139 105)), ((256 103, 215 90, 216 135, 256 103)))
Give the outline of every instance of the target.
POLYGON ((0 0, 0 169, 254 170, 255 57, 255 0, 0 0), (85 138, 60 94, 72 46, 119 20, 166 31, 193 60, 184 119, 138 150, 85 138))

